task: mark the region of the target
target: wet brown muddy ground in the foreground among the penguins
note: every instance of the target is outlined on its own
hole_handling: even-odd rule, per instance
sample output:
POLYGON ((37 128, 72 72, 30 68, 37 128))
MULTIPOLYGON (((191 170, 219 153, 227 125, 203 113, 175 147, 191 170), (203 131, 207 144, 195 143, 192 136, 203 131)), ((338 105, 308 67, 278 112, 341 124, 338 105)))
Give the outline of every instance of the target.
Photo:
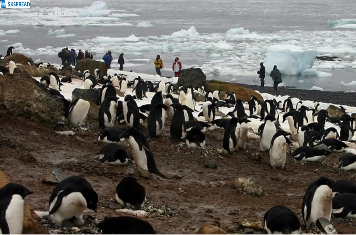
MULTIPOLYGON (((96 121, 89 120, 93 125, 96 121)), ((115 187, 122 177, 132 174, 134 164, 113 167, 98 162, 100 145, 94 143, 97 131, 74 130, 74 136, 59 135, 43 124, 22 117, 2 115, 0 117, 0 165, 11 181, 23 184, 35 191, 26 198, 37 210, 48 210, 48 200, 53 185, 42 183, 47 170, 57 166, 69 174, 85 177, 99 195, 98 213, 85 212, 102 220, 104 216, 116 216, 113 203, 115 187), (19 160, 23 151, 29 151, 35 163, 19 160)), ((56 131, 68 130, 58 127, 56 131)), ((222 147, 223 132, 215 130, 206 134, 205 150, 188 150, 179 142, 172 142, 169 129, 164 136, 150 140, 156 155, 158 169, 169 180, 154 176, 153 180, 140 178, 146 188, 149 201, 155 205, 165 205, 176 212, 172 217, 156 215, 145 220, 150 222, 157 233, 195 233, 206 223, 218 225, 220 219, 239 223, 246 218, 263 219, 264 213, 272 206, 281 204, 292 209, 301 219, 301 203, 308 185, 320 176, 333 179, 356 180, 354 174, 339 172, 335 168, 338 155, 331 155, 326 162, 301 164, 289 159, 286 170, 272 170, 268 155, 263 154, 262 162, 251 159, 251 153, 259 152, 257 140, 249 140, 247 153, 236 152, 230 158, 216 154, 214 148, 222 147), (217 169, 204 168, 204 164, 214 161, 217 169), (278 173, 287 177, 288 182, 273 180, 278 173), (182 176, 181 179, 180 176, 182 176), (225 182, 237 177, 256 177, 257 186, 265 193, 254 197, 226 186, 225 182)), ((339 233, 355 232, 352 225, 340 220, 332 220, 339 233)))

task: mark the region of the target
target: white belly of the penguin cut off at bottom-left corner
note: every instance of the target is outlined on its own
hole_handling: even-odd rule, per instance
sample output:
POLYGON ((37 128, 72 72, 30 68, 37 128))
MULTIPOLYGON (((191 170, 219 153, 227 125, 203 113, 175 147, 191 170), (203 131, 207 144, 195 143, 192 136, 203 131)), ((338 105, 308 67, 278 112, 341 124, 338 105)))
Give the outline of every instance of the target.
POLYGON ((10 234, 22 234, 24 201, 18 194, 12 195, 7 206, 5 219, 9 226, 10 234))

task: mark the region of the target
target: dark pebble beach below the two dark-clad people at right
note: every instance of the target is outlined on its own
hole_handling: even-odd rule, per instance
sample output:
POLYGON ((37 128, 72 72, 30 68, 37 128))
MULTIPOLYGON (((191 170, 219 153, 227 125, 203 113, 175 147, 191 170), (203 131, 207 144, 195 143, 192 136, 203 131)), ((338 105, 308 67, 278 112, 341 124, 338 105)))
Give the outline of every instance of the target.
POLYGON ((293 87, 278 87, 277 94, 273 91, 273 87, 261 87, 256 85, 248 85, 236 83, 240 86, 244 86, 258 91, 261 93, 269 93, 272 95, 289 95, 300 100, 312 100, 323 103, 332 103, 340 105, 356 106, 356 93, 355 92, 331 92, 331 91, 316 91, 316 90, 303 90, 293 87))

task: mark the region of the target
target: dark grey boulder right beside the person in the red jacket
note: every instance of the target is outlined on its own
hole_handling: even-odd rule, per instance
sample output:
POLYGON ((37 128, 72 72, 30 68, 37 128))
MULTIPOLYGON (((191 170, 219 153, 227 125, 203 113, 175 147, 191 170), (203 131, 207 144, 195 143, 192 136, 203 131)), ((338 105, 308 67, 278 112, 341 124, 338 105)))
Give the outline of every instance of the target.
POLYGON ((201 69, 190 68, 179 70, 178 86, 202 87, 206 82, 206 76, 201 69))

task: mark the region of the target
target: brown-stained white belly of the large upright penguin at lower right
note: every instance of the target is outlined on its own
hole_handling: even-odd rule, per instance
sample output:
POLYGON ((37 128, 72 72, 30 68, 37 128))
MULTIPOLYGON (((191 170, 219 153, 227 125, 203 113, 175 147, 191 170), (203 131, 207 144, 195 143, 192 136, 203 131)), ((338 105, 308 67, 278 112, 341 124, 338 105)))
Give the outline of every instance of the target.
MULTIPOLYGON (((314 193, 312 199, 312 208, 310 210, 310 217, 306 221, 307 226, 315 223, 317 219, 323 217, 330 221, 331 213, 333 212, 333 191, 326 185, 319 186, 314 193)), ((306 207, 304 209, 306 212, 306 207)), ((307 216, 307 213, 304 213, 307 216)))

